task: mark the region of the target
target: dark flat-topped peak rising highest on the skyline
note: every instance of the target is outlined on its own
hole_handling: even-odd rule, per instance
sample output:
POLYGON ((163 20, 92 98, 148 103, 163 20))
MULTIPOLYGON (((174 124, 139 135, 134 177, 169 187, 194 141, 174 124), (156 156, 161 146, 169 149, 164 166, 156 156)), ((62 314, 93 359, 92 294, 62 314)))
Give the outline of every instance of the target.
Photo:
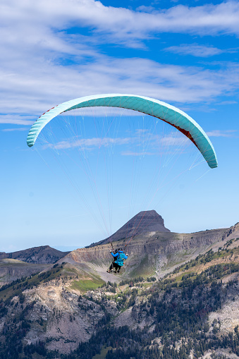
POLYGON ((125 223, 120 229, 118 229, 118 231, 116 231, 116 233, 112 234, 112 236, 104 239, 103 241, 92 243, 89 247, 116 242, 125 238, 130 240, 130 238, 135 237, 138 234, 152 231, 170 232, 169 229, 166 229, 164 226, 164 219, 156 211, 142 211, 125 223))

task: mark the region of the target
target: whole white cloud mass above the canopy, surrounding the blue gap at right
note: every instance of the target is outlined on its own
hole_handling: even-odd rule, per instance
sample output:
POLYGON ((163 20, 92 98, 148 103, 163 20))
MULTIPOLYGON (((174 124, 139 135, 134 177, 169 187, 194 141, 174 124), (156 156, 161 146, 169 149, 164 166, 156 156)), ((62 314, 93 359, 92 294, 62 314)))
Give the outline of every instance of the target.
POLYGON ((238 65, 209 71, 148 59, 117 59, 100 54, 95 45, 111 39, 114 44, 137 46, 165 31, 238 33, 238 11, 239 4, 233 1, 146 13, 93 0, 71 0, 71 6, 66 0, 3 0, 0 106, 2 114, 12 116, 1 116, 0 123, 28 125, 16 114, 37 118, 63 101, 97 93, 126 92, 183 103, 227 95, 238 88, 238 65), (82 27, 94 36, 69 33, 82 27))

